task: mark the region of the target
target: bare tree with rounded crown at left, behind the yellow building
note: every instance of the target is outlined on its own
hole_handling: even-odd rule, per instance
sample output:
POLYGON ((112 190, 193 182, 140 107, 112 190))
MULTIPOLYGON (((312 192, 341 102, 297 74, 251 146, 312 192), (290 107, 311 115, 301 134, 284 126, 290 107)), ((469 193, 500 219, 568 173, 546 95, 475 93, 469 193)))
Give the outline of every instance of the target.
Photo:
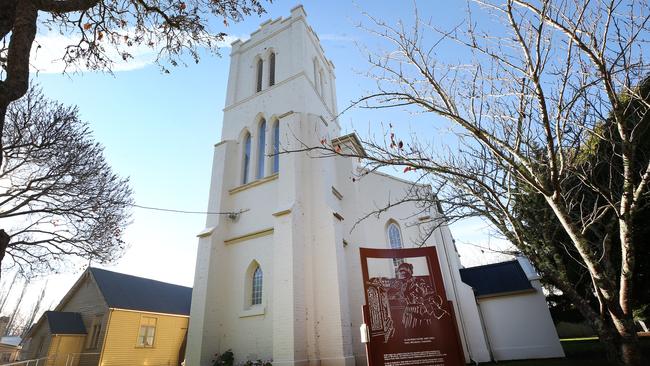
POLYGON ((119 258, 131 190, 111 171, 77 109, 32 89, 11 105, 7 120, 0 220, 9 228, 9 266, 29 275, 56 270, 70 257, 119 258))

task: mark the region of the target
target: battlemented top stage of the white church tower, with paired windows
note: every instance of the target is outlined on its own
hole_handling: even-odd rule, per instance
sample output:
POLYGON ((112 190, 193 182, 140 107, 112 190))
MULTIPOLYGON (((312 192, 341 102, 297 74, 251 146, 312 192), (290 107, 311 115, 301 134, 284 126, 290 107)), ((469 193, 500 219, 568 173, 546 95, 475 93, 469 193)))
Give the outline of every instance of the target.
POLYGON ((226 111, 255 103, 254 99, 264 99, 269 93, 282 93, 289 104, 291 99, 309 98, 324 105, 325 118, 337 115, 334 64, 325 57, 305 17, 302 5, 296 6, 290 17, 268 20, 250 39, 232 43, 226 111), (281 88, 295 84, 292 81, 301 76, 307 84, 281 88))

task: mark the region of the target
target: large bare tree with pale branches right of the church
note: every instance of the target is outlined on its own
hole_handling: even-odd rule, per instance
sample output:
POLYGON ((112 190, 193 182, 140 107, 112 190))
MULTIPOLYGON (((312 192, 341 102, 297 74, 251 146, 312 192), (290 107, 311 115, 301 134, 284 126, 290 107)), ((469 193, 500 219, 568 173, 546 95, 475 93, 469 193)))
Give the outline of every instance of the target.
MULTIPOLYGON (((572 299, 611 360, 641 365, 632 285, 644 249, 633 231, 649 200, 648 2, 477 0, 466 27, 451 30, 417 11, 408 26, 368 19, 388 51, 370 52, 376 90, 353 105, 424 114, 457 138, 441 148, 388 130, 363 141, 366 168, 402 166, 433 187, 404 201, 484 218, 572 299), (445 63, 458 47, 462 64, 445 63), (531 235, 520 210, 530 195, 548 213, 537 224, 554 220, 566 242, 531 235), (589 293, 574 288, 567 257, 585 268, 589 293)), ((355 156, 321 145, 303 150, 355 156)))

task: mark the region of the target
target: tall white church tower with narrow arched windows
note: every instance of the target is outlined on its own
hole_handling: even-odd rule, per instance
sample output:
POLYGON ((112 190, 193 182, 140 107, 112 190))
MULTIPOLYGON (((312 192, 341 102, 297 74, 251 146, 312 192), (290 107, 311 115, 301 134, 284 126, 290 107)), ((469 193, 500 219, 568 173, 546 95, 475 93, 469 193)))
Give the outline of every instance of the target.
POLYGON ((354 363, 336 160, 276 154, 340 131, 334 65, 305 17, 297 6, 232 44, 208 211, 243 212, 208 215, 198 235, 187 365, 228 349, 237 363, 354 363))

